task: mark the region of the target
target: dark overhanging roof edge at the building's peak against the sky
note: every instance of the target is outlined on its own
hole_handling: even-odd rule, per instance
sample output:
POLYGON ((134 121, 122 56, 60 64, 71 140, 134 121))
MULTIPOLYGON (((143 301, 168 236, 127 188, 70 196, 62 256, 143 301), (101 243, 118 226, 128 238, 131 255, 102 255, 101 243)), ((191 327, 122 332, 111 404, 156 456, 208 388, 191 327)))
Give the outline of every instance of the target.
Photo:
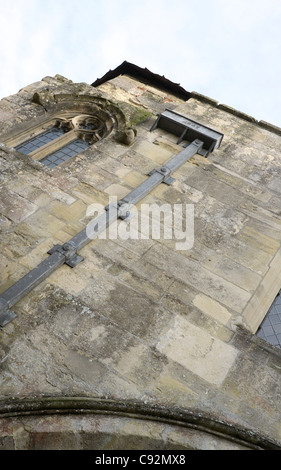
POLYGON ((179 84, 171 82, 167 78, 158 74, 155 74, 148 70, 147 68, 141 68, 137 65, 134 65, 126 60, 116 67, 114 70, 109 70, 102 78, 98 78, 95 82, 91 84, 93 87, 98 87, 113 78, 118 77, 119 75, 129 75, 132 78, 136 78, 142 83, 147 85, 156 86, 158 89, 162 91, 167 91, 172 95, 180 98, 184 101, 189 100, 191 98, 191 93, 186 91, 183 87, 179 84))

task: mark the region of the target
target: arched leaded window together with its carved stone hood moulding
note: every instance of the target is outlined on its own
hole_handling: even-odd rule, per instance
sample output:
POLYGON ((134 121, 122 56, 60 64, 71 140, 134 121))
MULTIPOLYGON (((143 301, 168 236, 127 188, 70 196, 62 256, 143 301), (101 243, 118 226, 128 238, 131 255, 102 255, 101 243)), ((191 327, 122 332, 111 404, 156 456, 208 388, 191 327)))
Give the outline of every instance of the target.
POLYGON ((134 140, 135 132, 132 134, 131 126, 128 125, 130 116, 124 113, 118 103, 100 96, 79 93, 54 95, 45 89, 36 92, 32 102, 44 108, 44 115, 17 124, 6 134, 3 142, 19 152, 24 148, 23 154, 33 160, 43 161, 77 139, 93 145, 117 132, 124 134, 123 143, 126 145, 134 140), (52 129, 63 132, 56 136, 52 129), (41 136, 44 138, 41 139, 41 136), (25 148, 25 144, 31 141, 34 145, 25 148))

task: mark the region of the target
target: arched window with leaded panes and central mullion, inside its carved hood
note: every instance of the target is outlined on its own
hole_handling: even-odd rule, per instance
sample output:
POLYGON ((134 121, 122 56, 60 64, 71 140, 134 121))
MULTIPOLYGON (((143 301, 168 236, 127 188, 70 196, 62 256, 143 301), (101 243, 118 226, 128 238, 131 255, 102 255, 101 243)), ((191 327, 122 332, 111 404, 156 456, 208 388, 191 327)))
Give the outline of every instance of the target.
POLYGON ((98 116, 58 115, 15 148, 54 168, 101 140, 106 131, 105 123, 98 116))

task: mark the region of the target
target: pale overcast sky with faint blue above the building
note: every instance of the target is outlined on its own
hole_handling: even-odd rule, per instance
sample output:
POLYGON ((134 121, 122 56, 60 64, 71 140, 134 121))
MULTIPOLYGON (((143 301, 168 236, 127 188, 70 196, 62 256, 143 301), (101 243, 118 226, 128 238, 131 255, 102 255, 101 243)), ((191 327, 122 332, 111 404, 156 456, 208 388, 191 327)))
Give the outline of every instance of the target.
POLYGON ((124 60, 281 127, 281 0, 0 0, 0 97, 124 60))

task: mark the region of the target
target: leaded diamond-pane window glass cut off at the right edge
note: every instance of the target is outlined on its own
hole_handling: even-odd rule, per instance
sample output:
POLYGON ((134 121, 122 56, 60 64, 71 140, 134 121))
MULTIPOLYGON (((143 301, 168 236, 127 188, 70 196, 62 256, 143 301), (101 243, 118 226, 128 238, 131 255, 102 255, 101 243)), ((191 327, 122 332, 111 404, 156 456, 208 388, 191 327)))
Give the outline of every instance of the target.
POLYGON ((257 336, 281 348, 281 291, 259 327, 257 336))

